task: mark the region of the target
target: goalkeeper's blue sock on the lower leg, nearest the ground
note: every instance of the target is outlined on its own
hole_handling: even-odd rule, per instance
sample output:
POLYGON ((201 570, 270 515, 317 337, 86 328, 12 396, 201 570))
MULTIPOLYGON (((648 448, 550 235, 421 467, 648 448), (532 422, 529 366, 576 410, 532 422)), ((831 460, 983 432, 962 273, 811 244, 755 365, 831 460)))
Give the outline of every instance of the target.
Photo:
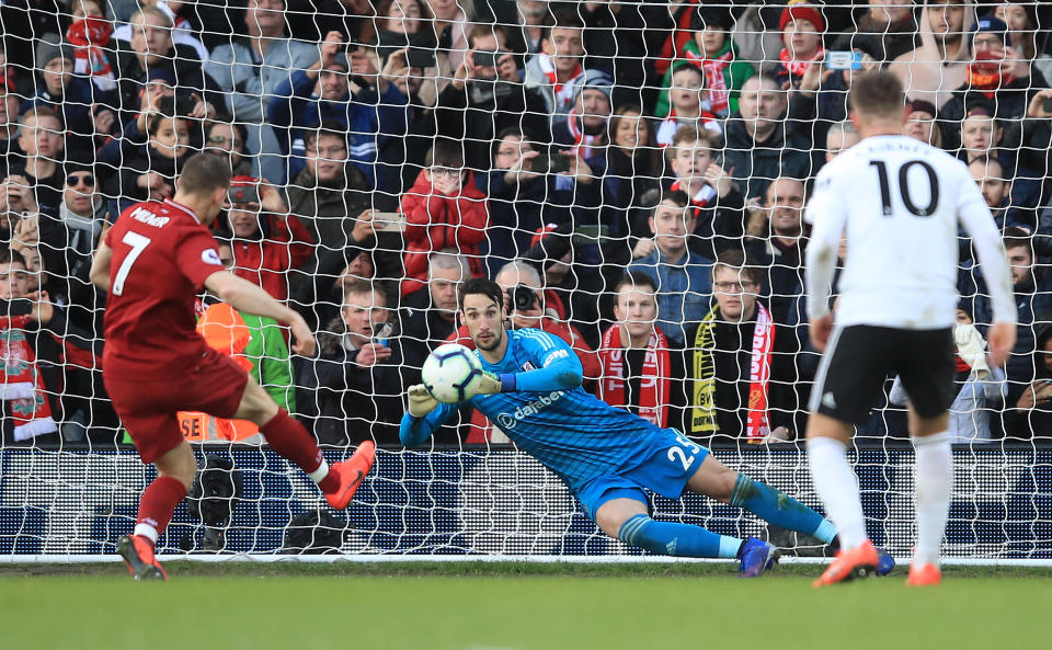
POLYGON ((621 524, 617 538, 650 552, 687 558, 736 558, 742 540, 717 535, 701 526, 655 522, 638 514, 621 524))

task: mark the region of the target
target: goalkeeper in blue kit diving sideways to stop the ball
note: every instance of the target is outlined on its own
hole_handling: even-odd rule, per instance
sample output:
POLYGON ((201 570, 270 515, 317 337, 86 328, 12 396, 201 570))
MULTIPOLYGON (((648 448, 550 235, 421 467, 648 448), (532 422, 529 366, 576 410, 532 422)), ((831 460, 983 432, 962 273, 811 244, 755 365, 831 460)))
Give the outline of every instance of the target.
MULTIPOLYGON (((489 280, 460 287, 460 317, 487 370, 471 404, 559 475, 606 534, 661 555, 737 558, 746 578, 774 565, 777 549, 761 539, 656 522, 648 514, 647 490, 670 499, 689 490, 833 541, 833 524, 807 505, 731 470, 682 433, 585 392, 573 351, 540 330, 505 331, 504 304, 501 287, 489 280)), ((438 403, 423 385, 409 389, 409 404, 400 432, 407 446, 423 443, 457 410, 438 403)))

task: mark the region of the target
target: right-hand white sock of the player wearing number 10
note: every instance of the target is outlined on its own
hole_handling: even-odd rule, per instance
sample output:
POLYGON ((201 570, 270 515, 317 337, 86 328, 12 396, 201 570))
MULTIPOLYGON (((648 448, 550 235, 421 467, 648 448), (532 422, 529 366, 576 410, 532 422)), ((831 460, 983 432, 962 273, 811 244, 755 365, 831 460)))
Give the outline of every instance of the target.
MULTIPOLYGON (((953 492, 953 455, 947 432, 913 438, 916 449, 917 548, 916 566, 939 566, 939 547, 950 514, 953 492)), ((835 522, 836 520, 834 520, 835 522)))

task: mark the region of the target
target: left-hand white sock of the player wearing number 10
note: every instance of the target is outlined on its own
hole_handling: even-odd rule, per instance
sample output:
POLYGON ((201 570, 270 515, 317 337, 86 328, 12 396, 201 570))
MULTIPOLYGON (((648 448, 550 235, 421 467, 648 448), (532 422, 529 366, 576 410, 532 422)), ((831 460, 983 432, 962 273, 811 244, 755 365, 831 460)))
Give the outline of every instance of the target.
POLYGON ((808 440, 808 463, 814 489, 825 504, 825 514, 836 524, 841 548, 859 546, 869 537, 858 493, 858 477, 847 463, 847 447, 838 440, 817 436, 808 440))

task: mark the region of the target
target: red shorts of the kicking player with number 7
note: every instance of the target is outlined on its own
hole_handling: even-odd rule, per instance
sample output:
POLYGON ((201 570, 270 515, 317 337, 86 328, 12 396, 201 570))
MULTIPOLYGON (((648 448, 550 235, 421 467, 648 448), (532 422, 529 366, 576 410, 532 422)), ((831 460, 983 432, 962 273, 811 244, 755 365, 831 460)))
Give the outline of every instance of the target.
POLYGON ((202 411, 216 418, 233 418, 249 381, 244 368, 211 349, 181 377, 158 379, 156 370, 146 369, 142 377, 112 378, 105 370, 102 374, 113 408, 147 464, 183 442, 175 413, 202 411))

